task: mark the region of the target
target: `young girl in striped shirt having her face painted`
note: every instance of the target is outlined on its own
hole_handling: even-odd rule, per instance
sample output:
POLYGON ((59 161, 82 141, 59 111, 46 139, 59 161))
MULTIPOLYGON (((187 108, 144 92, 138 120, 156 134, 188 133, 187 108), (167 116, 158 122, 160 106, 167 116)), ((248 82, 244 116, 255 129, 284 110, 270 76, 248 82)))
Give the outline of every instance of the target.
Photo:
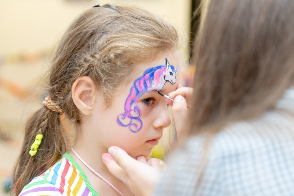
POLYGON ((165 98, 181 76, 181 40, 138 7, 94 6, 55 51, 41 107, 27 121, 16 195, 133 195, 101 155, 116 145, 149 157, 171 119, 165 98), (61 117, 76 127, 72 148, 61 117))

